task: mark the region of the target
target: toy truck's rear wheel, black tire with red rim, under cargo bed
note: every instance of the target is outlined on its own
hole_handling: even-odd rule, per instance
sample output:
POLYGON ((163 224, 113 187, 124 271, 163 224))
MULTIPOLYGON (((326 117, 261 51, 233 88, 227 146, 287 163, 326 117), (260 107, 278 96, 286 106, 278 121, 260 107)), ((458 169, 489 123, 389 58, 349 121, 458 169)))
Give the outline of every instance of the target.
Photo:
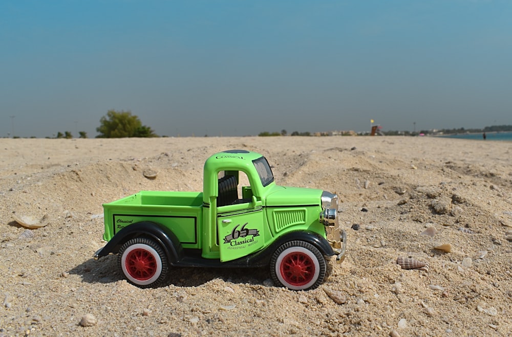
POLYGON ((140 288, 158 287, 167 279, 167 256, 151 239, 138 237, 126 241, 119 250, 118 261, 126 280, 140 288))

